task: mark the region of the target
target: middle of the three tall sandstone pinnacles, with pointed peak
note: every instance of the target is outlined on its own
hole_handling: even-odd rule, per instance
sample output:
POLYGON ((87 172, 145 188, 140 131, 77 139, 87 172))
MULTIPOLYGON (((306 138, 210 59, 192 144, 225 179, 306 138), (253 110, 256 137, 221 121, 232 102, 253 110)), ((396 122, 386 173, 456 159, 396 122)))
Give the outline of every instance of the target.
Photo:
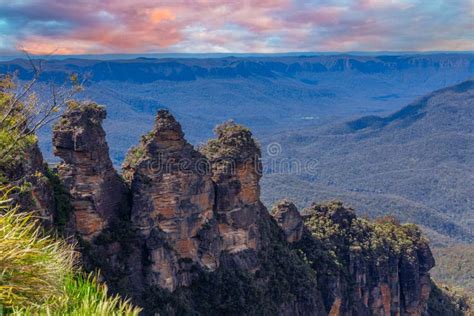
POLYGON ((149 280, 174 290, 190 284, 192 264, 215 270, 220 241, 207 160, 168 111, 158 112, 123 170, 133 192, 132 222, 149 250, 149 280))

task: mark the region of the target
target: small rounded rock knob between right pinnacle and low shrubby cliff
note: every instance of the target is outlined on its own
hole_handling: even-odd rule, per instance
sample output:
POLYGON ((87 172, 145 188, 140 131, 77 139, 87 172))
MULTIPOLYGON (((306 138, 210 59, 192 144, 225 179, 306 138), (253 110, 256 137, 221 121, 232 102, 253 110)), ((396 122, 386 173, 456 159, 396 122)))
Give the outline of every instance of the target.
POLYGON ((272 216, 286 235, 286 240, 293 243, 303 236, 303 218, 296 206, 286 200, 276 203, 272 208, 272 216))

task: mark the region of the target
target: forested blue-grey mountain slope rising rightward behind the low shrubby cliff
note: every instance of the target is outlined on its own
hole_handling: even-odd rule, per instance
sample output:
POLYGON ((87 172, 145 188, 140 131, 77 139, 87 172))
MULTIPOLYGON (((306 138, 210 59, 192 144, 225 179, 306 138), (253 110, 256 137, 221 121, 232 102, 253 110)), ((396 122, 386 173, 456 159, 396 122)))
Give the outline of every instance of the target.
POLYGON ((388 116, 365 116, 266 138, 277 159, 315 160, 311 173, 268 170, 264 200, 338 199, 369 216, 424 227, 434 245, 474 241, 474 81, 388 116))

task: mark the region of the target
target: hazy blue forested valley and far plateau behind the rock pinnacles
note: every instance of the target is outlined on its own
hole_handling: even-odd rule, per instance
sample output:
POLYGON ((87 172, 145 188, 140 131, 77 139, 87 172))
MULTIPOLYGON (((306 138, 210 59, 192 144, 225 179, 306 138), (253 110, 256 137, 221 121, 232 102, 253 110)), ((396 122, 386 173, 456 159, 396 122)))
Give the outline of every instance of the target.
MULTIPOLYGON (((35 61, 38 62, 38 61, 35 61)), ((474 54, 319 55, 222 58, 64 59, 43 61, 43 83, 88 77, 82 98, 107 107, 114 163, 152 126, 157 109, 183 122, 190 141, 210 138, 233 118, 257 137, 361 115, 395 111, 423 94, 474 75, 474 54)), ((0 72, 31 78, 26 60, 0 72)), ((52 158, 49 130, 41 147, 52 158)))

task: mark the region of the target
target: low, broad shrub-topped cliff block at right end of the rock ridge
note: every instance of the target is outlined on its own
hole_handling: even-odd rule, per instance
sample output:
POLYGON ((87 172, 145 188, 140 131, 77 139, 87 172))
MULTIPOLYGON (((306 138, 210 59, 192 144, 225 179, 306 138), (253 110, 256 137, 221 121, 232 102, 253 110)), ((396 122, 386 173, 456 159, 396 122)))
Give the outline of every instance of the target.
POLYGON ((303 216, 293 246, 317 271, 329 315, 425 313, 434 259, 416 226, 359 219, 338 202, 314 204, 303 216))

